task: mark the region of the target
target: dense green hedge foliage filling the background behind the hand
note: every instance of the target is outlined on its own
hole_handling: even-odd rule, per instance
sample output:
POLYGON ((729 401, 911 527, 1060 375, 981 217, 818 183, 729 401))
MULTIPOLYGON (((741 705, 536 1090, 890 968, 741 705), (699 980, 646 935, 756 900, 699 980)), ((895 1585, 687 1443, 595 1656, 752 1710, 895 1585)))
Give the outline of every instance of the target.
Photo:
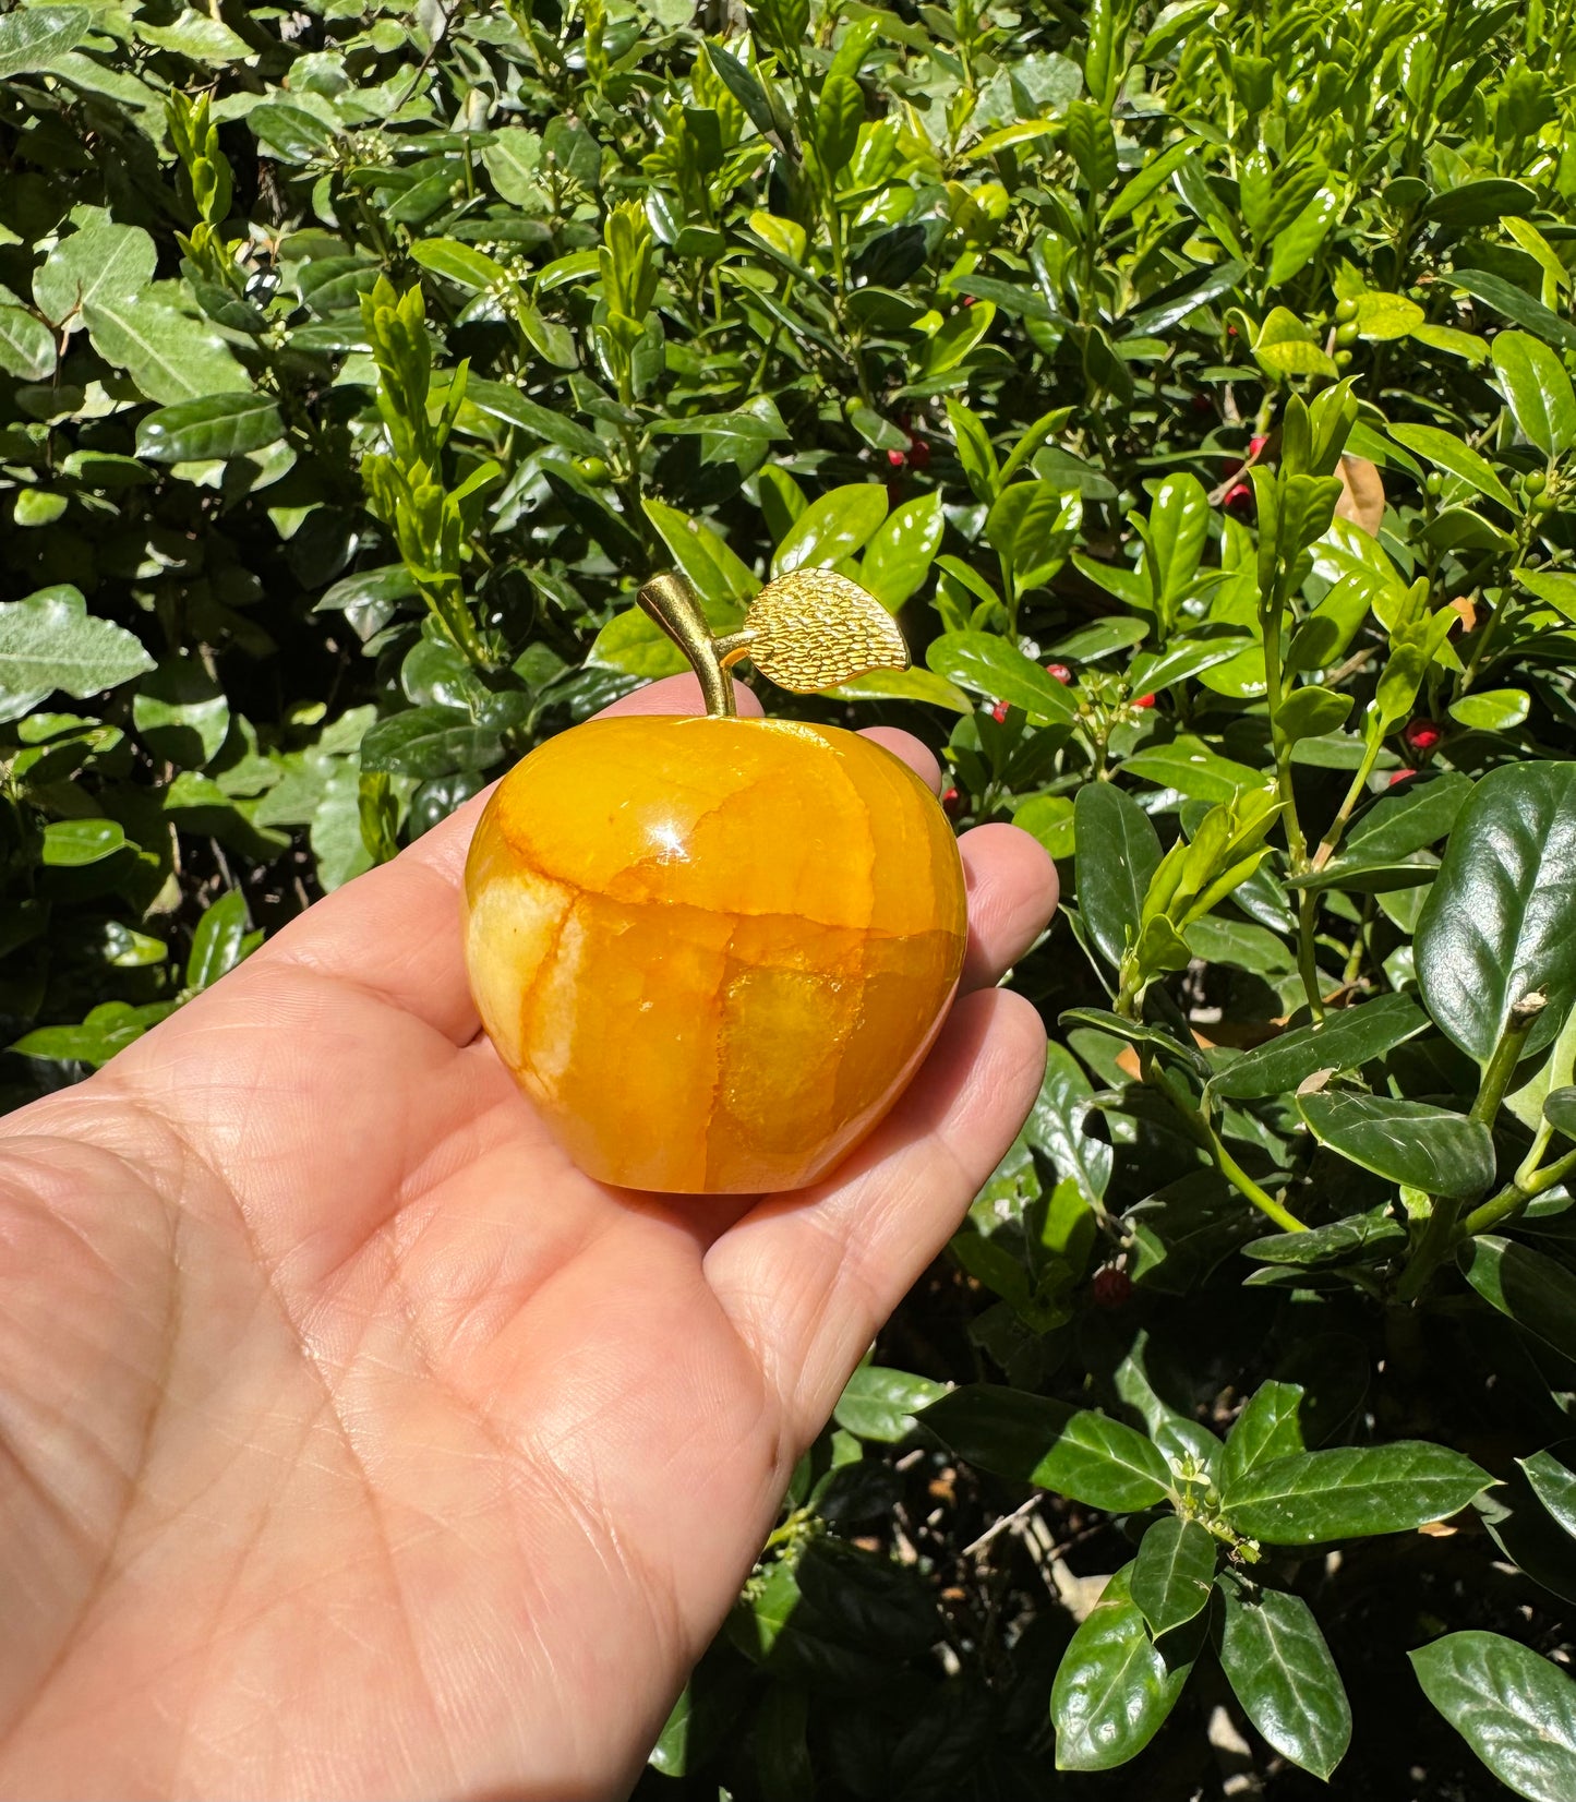
POLYGON ((1061 865, 652 1795, 1576 1795, 1571 25, 0 16, 11 1105, 674 669, 663 566, 857 575, 917 667, 769 705, 1061 865))

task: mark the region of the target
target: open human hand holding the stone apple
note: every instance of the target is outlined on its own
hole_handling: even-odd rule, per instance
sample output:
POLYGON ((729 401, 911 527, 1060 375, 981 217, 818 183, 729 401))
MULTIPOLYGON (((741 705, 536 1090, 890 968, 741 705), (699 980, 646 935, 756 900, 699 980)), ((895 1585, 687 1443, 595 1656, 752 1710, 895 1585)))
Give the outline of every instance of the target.
POLYGON ((960 998, 832 1180, 587 1180, 477 1033, 479 805, 0 1123, 7 1795, 627 1789, 1028 1112, 1041 1024, 992 984, 1055 870, 987 825, 960 998))

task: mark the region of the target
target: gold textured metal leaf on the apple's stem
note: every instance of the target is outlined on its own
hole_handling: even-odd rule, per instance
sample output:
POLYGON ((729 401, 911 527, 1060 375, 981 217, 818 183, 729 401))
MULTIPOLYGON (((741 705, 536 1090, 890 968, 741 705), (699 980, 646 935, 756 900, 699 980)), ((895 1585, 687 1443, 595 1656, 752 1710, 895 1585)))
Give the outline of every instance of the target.
POLYGON ((793 569, 767 582, 749 604, 740 638, 760 674, 794 694, 908 669, 897 622, 836 569, 793 569))

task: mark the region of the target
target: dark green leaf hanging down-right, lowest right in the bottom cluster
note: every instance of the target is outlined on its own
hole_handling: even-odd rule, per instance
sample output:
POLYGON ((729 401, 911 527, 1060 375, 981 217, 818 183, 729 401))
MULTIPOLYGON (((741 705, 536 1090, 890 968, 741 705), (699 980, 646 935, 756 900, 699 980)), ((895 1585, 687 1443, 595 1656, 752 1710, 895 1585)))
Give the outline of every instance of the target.
POLYGON ((1221 1571, 1219 1658, 1243 1714, 1293 1764, 1329 1773, 1351 1744, 1345 1685, 1300 1595, 1221 1571))

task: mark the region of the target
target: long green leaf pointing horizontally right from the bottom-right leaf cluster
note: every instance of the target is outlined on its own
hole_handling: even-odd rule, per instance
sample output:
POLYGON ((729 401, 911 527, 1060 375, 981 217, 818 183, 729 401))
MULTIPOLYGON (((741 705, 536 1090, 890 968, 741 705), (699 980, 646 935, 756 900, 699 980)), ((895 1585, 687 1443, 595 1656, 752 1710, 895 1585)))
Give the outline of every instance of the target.
POLYGON ((1491 1478, 1425 1440, 1342 1445, 1254 1465, 1223 1492, 1230 1524, 1272 1546, 1408 1534, 1459 1512, 1491 1478))

